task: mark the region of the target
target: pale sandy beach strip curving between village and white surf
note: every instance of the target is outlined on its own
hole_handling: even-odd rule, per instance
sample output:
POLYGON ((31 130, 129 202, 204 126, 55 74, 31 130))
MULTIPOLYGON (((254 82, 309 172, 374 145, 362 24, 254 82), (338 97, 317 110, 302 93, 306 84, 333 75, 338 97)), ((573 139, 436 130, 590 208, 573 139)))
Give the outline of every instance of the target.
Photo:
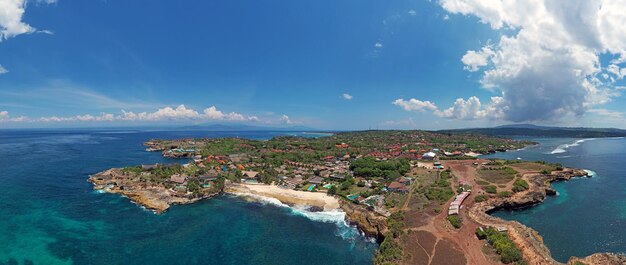
POLYGON ((237 184, 226 185, 224 191, 235 195, 257 195, 274 198, 289 205, 307 205, 332 211, 339 209, 339 200, 323 192, 284 189, 276 185, 237 184))

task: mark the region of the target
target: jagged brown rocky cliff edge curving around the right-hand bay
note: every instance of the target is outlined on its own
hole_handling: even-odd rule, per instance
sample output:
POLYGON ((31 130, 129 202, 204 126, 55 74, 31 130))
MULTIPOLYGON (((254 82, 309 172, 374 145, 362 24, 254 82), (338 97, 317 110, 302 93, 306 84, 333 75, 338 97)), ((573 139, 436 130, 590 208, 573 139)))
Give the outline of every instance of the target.
MULTIPOLYGON (((563 264, 552 258, 550 250, 544 244, 541 235, 534 229, 517 221, 508 221, 489 213, 497 210, 512 210, 532 207, 542 203, 547 196, 556 195, 551 186, 552 182, 569 181, 574 177, 591 177, 588 171, 565 169, 562 172, 552 172, 549 175, 538 173, 525 174, 524 179, 530 184, 530 189, 513 195, 510 198, 492 198, 484 202, 475 203, 468 210, 469 217, 482 226, 506 228, 511 239, 520 247, 524 258, 529 264, 563 264)), ((619 265, 626 264, 626 256, 614 253, 595 253, 579 258, 570 257, 566 264, 619 265)))

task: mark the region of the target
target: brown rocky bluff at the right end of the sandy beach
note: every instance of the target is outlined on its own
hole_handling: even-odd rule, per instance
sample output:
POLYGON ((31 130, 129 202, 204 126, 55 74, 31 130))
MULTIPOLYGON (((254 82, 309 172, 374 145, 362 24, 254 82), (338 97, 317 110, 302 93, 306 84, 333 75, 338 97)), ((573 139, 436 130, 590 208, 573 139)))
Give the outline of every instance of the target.
POLYGON ((379 242, 389 231, 387 218, 351 202, 341 201, 341 209, 346 213, 350 224, 356 225, 367 236, 375 237, 379 242))

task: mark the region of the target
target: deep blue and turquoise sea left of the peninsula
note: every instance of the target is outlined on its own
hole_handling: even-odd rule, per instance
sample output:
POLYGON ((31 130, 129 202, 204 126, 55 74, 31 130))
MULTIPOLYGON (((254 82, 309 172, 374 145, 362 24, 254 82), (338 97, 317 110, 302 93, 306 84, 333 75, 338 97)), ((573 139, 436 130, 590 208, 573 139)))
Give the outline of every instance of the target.
POLYGON ((0 130, 0 264, 371 264, 377 245, 336 214, 222 196, 155 215, 86 181, 165 162, 151 138, 285 134, 0 130))

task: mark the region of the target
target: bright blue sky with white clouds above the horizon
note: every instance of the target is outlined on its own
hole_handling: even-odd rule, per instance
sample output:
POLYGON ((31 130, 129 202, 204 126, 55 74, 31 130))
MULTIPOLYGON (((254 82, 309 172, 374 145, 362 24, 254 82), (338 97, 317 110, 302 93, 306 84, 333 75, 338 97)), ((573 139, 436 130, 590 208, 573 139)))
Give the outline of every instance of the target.
POLYGON ((0 129, 626 128, 626 0, 0 0, 0 129))

